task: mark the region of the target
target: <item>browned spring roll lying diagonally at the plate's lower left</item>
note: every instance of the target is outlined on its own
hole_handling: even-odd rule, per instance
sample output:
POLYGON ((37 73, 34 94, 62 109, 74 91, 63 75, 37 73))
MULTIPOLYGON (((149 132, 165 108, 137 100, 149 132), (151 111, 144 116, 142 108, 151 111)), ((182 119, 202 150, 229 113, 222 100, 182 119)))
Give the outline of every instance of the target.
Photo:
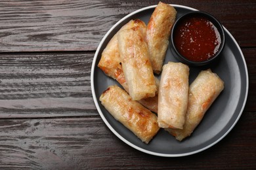
POLYGON ((100 101, 117 121, 135 133, 144 143, 149 143, 160 129, 156 114, 133 101, 131 96, 118 86, 108 87, 100 96, 100 101))

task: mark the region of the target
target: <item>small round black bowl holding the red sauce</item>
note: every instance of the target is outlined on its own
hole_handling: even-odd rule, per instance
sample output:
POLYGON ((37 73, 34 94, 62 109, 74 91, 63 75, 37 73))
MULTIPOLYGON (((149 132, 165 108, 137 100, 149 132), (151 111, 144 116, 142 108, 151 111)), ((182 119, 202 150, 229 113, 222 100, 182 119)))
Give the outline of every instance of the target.
POLYGON ((216 61, 219 58, 224 48, 224 43, 225 43, 225 36, 224 36, 223 25, 216 18, 211 16, 211 14, 208 14, 202 11, 194 11, 194 12, 189 12, 187 14, 184 14, 183 16, 177 19, 171 31, 171 51, 175 55, 175 58, 179 59, 179 61, 181 61, 182 63, 185 63, 190 66, 202 66, 202 65, 207 65, 209 63, 212 63, 213 61, 216 61), (182 22, 184 22, 184 20, 187 20, 188 18, 193 18, 193 17, 207 18, 207 20, 209 20, 209 22, 211 22, 215 26, 215 28, 217 28, 217 31, 219 31, 219 35, 221 38, 221 43, 219 45, 217 52, 213 56, 211 56, 211 58, 205 59, 203 61, 192 61, 191 59, 186 58, 186 56, 183 56, 181 52, 179 52, 177 46, 175 46, 176 42, 175 42, 174 36, 175 34, 177 34, 177 29, 179 29, 179 25, 182 22))

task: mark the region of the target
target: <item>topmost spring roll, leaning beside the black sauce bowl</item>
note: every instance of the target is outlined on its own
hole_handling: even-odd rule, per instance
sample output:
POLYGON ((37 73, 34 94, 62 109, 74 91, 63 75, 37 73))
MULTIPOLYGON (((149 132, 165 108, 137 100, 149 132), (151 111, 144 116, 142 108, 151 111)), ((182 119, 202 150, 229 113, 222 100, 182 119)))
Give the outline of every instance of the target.
POLYGON ((177 11, 171 5, 160 2, 148 22, 146 42, 150 51, 152 67, 156 74, 161 72, 176 14, 177 11))

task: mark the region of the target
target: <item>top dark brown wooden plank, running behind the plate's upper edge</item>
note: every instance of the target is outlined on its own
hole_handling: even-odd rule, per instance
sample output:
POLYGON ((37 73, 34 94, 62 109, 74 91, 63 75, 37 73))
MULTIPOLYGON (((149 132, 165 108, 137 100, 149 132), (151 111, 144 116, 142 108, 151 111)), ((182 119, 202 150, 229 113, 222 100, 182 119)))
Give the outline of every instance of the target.
MULTIPOLYGON (((0 2, 0 52, 96 50, 102 37, 118 20, 157 3, 3 0, 0 2)), ((165 3, 209 12, 234 35, 240 46, 256 46, 255 1, 177 0, 165 3)))

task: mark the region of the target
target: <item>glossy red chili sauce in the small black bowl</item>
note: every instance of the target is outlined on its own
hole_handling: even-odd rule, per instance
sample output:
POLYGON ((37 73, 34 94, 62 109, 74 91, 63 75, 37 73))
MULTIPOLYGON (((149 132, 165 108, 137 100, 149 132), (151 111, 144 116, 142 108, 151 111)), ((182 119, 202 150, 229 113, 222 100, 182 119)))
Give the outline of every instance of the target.
POLYGON ((177 25, 174 44, 178 52, 190 61, 205 61, 219 50, 221 35, 206 17, 188 17, 177 25))

